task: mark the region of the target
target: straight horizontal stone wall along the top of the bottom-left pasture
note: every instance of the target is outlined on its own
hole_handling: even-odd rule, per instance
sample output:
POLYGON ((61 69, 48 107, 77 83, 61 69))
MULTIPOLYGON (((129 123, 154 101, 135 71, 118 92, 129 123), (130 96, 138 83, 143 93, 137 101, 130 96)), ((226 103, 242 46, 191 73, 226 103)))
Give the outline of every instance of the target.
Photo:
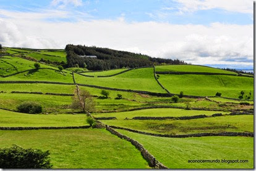
POLYGON ((0 127, 0 130, 38 130, 38 129, 88 129, 90 125, 77 127, 0 127))

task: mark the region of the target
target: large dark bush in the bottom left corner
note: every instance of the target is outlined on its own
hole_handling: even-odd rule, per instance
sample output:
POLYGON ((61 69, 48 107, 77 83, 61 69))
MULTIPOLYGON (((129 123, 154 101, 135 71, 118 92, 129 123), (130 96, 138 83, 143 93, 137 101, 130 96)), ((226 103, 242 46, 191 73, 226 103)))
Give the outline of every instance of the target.
POLYGON ((0 168, 2 169, 51 169, 49 151, 41 149, 21 148, 14 145, 11 148, 0 149, 0 168))

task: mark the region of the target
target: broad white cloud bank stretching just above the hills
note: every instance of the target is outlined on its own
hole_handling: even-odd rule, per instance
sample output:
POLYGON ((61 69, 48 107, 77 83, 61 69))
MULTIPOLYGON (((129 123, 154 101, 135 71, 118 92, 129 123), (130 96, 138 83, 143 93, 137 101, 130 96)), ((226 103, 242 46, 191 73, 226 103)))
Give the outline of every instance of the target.
MULTIPOLYGON (((1 15, 4 12, 0 10, 1 15)), ((32 14, 28 13, 6 15, 7 18, 0 18, 3 46, 64 49, 66 44, 85 44, 200 65, 253 65, 253 25, 127 23, 120 18, 53 23, 41 20, 43 14, 33 14, 30 20, 27 16, 32 14)))

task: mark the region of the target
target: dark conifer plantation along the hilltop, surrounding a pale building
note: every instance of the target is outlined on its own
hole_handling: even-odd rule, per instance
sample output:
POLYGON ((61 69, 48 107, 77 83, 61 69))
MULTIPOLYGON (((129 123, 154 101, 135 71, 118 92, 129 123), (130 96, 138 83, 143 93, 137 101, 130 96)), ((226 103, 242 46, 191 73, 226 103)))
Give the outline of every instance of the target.
POLYGON ((88 70, 111 70, 118 68, 135 68, 160 64, 179 65, 187 64, 182 60, 152 58, 148 55, 135 54, 121 50, 113 50, 101 47, 88 47, 67 44, 67 67, 87 68, 88 70), (80 57, 83 55, 95 55, 96 58, 80 57))

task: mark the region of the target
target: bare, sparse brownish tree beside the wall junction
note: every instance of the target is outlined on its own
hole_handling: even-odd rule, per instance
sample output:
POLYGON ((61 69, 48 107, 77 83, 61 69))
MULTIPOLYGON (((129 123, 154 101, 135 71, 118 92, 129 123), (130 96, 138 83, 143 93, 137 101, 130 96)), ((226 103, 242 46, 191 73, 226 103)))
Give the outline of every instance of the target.
POLYGON ((92 95, 87 90, 74 90, 74 97, 71 108, 72 109, 80 109, 83 113, 87 113, 89 111, 93 111, 95 109, 95 101, 92 98, 92 95))

